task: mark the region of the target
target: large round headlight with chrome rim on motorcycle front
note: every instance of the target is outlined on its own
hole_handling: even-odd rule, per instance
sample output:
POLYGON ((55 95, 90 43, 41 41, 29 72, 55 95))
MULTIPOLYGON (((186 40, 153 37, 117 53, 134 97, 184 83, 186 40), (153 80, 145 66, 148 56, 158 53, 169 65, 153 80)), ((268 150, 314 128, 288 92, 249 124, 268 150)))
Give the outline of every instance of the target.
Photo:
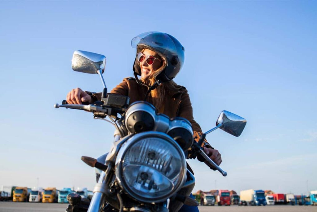
POLYGON ((141 202, 162 202, 186 180, 181 147, 159 132, 138 133, 121 147, 115 167, 120 187, 141 202))

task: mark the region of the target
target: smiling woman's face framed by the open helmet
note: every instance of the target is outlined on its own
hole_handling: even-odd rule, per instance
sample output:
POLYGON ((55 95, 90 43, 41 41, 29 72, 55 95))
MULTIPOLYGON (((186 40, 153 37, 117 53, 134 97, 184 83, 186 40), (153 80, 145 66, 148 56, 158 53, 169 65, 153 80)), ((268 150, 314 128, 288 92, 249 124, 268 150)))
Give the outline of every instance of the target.
POLYGON ((162 60, 159 54, 157 54, 155 51, 144 49, 142 53, 145 57, 148 55, 152 55, 153 57, 158 58, 154 60, 154 63, 152 65, 148 65, 146 63, 146 60, 139 62, 141 68, 141 78, 146 80, 149 79, 152 74, 162 66, 162 60))

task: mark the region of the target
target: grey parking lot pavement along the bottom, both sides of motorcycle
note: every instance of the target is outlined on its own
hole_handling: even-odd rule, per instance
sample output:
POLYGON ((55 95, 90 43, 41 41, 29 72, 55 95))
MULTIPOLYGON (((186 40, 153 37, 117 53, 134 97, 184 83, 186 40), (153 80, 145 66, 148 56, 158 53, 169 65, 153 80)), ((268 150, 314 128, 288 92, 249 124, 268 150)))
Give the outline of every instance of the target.
MULTIPOLYGON (((0 212, 64 212, 67 203, 0 202, 0 212)), ((317 206, 198 206, 200 212, 317 212, 317 206)))

